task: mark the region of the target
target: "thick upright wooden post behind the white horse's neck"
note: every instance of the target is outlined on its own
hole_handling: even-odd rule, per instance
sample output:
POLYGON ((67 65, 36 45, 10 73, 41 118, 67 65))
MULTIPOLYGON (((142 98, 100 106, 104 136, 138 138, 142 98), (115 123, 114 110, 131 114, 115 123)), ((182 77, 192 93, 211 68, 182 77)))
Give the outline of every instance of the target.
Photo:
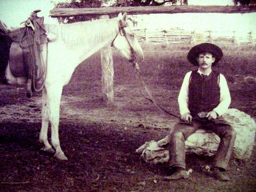
MULTIPOLYGON (((109 15, 100 16, 101 19, 110 18, 109 15)), ((108 102, 114 102, 114 67, 113 55, 111 46, 105 46, 100 50, 101 54, 101 81, 103 99, 108 99, 108 102)))

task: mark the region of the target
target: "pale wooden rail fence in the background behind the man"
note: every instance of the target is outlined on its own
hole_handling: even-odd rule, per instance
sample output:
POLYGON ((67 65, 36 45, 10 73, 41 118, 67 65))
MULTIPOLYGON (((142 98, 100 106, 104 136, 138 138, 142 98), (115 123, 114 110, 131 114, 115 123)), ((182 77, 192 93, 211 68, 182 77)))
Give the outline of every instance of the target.
POLYGON ((195 31, 151 31, 135 30, 137 39, 149 44, 200 44, 210 42, 213 44, 235 44, 235 45, 255 45, 256 39, 252 32, 216 32, 206 31, 196 33, 195 31))

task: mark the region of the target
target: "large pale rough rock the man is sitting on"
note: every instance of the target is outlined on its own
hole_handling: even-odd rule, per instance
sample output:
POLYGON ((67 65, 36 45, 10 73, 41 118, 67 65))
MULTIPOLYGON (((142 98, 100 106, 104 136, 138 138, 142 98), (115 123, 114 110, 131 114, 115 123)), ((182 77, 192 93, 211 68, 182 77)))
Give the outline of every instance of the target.
MULTIPOLYGON (((256 129, 254 119, 237 109, 228 109, 223 118, 237 132, 234 157, 243 160, 249 159, 254 145, 256 129)), ((169 160, 169 152, 166 147, 168 141, 168 136, 166 136, 159 141, 146 142, 136 150, 136 153, 141 154, 141 158, 148 163, 166 163, 169 160)), ((198 130, 185 141, 186 152, 212 156, 217 151, 219 143, 220 138, 215 133, 198 130)))

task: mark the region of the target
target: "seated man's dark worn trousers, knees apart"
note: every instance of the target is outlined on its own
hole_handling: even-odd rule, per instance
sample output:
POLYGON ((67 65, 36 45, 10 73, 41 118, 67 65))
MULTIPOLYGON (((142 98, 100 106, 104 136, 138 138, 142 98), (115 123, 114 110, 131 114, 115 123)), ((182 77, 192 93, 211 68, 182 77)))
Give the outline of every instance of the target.
POLYGON ((170 133, 170 167, 186 167, 185 141, 198 129, 214 132, 220 137, 220 144, 213 166, 226 170, 233 150, 234 140, 236 139, 236 132, 222 117, 211 120, 207 118, 193 118, 192 122, 180 120, 170 133))

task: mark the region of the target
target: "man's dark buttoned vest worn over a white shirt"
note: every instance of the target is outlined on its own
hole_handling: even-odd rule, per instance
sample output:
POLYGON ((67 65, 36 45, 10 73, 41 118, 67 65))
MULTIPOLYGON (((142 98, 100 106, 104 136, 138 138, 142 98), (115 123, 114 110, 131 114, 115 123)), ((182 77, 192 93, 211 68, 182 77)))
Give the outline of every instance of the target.
POLYGON ((192 71, 188 86, 188 109, 195 117, 199 112, 210 112, 220 103, 220 73, 212 71, 204 80, 197 72, 192 71))

